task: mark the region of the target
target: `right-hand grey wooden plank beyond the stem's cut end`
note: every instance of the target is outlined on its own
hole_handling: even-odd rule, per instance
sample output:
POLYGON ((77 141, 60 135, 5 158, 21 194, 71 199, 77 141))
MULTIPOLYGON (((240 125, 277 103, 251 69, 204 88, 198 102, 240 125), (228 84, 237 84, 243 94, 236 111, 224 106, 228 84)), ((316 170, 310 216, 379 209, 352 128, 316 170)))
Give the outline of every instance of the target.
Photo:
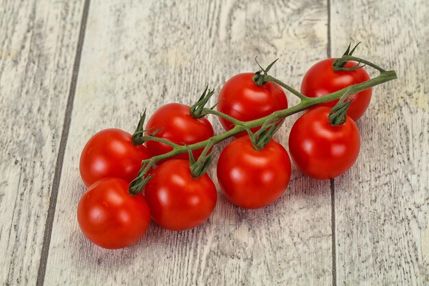
POLYGON ((356 167, 336 180, 337 285, 429 285, 427 1, 332 1, 332 55, 395 69, 373 89, 356 167))

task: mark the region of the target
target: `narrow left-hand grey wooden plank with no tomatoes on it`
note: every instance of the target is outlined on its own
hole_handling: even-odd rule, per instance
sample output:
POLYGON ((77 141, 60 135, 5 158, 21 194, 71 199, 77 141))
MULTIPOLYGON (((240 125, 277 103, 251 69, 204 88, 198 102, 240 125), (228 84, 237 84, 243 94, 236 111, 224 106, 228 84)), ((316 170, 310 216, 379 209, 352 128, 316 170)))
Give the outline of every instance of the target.
POLYGON ((0 285, 34 285, 82 1, 0 1, 0 285))

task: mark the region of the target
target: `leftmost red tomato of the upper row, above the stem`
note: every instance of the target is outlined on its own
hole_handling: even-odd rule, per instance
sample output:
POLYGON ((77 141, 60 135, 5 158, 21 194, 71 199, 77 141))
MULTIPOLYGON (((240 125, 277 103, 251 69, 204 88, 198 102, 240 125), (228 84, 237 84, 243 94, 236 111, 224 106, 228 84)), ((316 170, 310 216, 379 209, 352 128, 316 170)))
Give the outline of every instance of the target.
POLYGON ((82 151, 80 176, 86 187, 108 177, 131 182, 138 174, 141 161, 148 158, 147 148, 134 146, 130 133, 119 129, 102 130, 89 139, 82 151))

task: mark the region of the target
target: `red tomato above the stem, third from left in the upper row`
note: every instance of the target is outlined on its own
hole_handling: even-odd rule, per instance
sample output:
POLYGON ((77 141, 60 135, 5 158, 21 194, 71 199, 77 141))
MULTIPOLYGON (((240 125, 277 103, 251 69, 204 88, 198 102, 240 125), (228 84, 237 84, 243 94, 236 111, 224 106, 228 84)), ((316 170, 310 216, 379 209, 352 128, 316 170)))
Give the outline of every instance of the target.
MULTIPOLYGON (((281 86, 271 82, 258 86, 253 76, 254 73, 240 73, 230 78, 219 93, 217 110, 241 121, 251 121, 288 107, 281 86)), ((227 131, 234 127, 231 121, 220 117, 219 120, 227 131)), ((254 128, 252 132, 258 129, 254 128)), ((247 133, 241 132, 236 137, 245 134, 247 133)))

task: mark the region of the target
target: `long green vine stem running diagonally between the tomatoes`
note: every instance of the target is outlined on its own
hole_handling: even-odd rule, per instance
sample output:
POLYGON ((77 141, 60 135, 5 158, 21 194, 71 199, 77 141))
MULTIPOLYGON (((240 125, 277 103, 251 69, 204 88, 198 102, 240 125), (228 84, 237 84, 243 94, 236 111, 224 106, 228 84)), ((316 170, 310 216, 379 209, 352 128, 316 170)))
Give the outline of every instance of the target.
MULTIPOLYGON (((290 108, 286 108, 284 110, 278 110, 271 115, 267 115, 266 117, 262 117, 260 119, 255 119, 252 121, 239 121, 237 119, 234 119, 228 115, 223 114, 222 112, 219 112, 217 110, 212 110, 211 108, 204 108, 201 110, 201 115, 217 115, 219 117, 223 117, 225 119, 228 119, 232 123, 234 123, 234 128, 227 132, 223 132, 221 134, 218 134, 216 136, 211 137, 210 139, 207 139, 205 141, 201 141, 198 143, 194 143, 191 145, 171 145, 173 147, 173 150, 171 150, 168 153, 161 154, 158 156, 154 156, 150 159, 143 160, 142 164, 143 167, 140 169, 140 172, 131 183, 130 183, 130 193, 136 194, 141 189, 143 189, 145 182, 147 181, 147 171, 149 170, 148 166, 156 165, 160 160, 164 160, 167 158, 171 158, 173 156, 188 152, 188 150, 197 150, 206 147, 209 143, 210 145, 215 145, 225 139, 230 138, 231 136, 234 136, 240 132, 243 132, 245 130, 249 130, 252 128, 256 128, 259 126, 264 125, 266 122, 271 123, 275 121, 279 121, 280 119, 284 119, 286 117, 289 117, 297 112, 304 111, 308 108, 311 108, 312 106, 317 106, 319 104, 324 104, 326 102, 332 102, 333 100, 340 99, 343 97, 343 95, 354 95, 356 93, 360 93, 360 91, 365 91, 367 88, 371 88, 373 86, 377 86, 379 84, 383 84, 385 82, 389 82, 391 80, 395 80, 397 78, 397 75, 395 71, 385 71, 384 69, 376 66, 376 64, 373 64, 371 62, 368 62, 367 60, 363 60, 360 58, 356 58, 354 56, 348 56, 345 55, 342 60, 355 60, 356 62, 361 62, 364 64, 367 64, 369 67, 373 67, 374 69, 377 69, 380 71, 380 75, 378 75, 376 78, 372 78, 371 80, 368 80, 367 82, 362 82, 360 84, 353 84, 351 86, 347 86, 346 88, 341 89, 340 91, 336 91, 334 93, 329 93, 327 95, 323 95, 321 97, 306 97, 305 95, 302 95, 298 91, 296 91, 291 86, 288 86, 287 84, 284 84, 280 80, 273 78, 271 75, 267 75, 267 73, 261 74, 260 72, 256 73, 258 76, 264 77, 263 79, 260 79, 260 82, 275 82, 276 84, 282 86, 286 90, 293 93, 293 95, 296 95, 301 99, 301 102, 299 104, 292 106, 290 108), (144 170, 145 169, 145 170, 144 170)), ((148 141, 148 140, 156 140, 159 141, 159 139, 156 139, 154 136, 142 136, 140 142, 142 141, 148 141)), ((166 143, 166 142, 163 142, 166 143)))

